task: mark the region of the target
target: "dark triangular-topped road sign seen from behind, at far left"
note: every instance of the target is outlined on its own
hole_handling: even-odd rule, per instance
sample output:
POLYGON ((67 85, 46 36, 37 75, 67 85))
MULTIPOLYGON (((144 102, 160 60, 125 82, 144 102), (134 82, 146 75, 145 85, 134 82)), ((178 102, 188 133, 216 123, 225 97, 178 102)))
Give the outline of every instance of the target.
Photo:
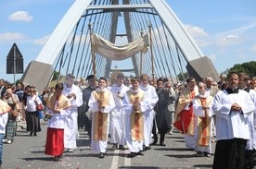
POLYGON ((6 74, 20 73, 23 73, 23 56, 17 44, 14 43, 6 57, 6 74))

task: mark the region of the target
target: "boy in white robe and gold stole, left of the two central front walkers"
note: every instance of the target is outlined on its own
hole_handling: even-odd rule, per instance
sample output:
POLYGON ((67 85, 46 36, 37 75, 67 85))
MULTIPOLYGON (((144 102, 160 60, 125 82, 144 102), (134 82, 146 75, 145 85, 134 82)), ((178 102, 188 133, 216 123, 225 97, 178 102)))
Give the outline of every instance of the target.
POLYGON ((113 95, 107 89, 106 78, 99 78, 98 88, 92 91, 88 106, 93 112, 92 150, 99 151, 98 158, 104 158, 108 147, 109 112, 115 107, 113 95))

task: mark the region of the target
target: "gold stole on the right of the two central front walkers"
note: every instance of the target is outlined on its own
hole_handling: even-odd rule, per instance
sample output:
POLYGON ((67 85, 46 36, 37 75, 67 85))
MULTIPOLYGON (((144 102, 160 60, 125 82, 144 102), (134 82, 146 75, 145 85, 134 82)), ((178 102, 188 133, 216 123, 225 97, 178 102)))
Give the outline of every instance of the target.
MULTIPOLYGON (((139 91, 138 93, 134 93, 132 91, 128 91, 128 96, 131 104, 134 104, 136 102, 140 103, 143 99, 144 92, 139 91)), ((144 140, 143 113, 140 109, 134 111, 134 107, 131 114, 131 134, 132 140, 144 140)))

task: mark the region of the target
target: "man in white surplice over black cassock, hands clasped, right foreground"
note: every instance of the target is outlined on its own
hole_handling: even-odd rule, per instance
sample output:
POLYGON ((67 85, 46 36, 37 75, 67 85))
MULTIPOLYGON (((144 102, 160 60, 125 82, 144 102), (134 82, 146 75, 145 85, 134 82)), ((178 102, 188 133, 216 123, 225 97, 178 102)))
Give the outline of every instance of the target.
POLYGON ((228 75, 228 88, 218 91, 212 103, 216 115, 216 149, 213 169, 244 168, 245 148, 250 139, 249 115, 255 105, 247 91, 237 88, 237 73, 228 75))

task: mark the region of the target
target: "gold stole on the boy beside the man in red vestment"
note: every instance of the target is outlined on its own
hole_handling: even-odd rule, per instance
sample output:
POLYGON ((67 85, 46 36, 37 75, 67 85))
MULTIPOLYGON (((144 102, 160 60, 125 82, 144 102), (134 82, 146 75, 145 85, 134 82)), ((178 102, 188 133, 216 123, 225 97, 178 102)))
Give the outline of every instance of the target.
MULTIPOLYGON (((198 103, 202 106, 208 106, 212 97, 200 98, 196 97, 198 103)), ((209 146, 211 139, 211 118, 207 115, 208 110, 204 110, 204 117, 198 116, 198 145, 199 146, 209 146)))

